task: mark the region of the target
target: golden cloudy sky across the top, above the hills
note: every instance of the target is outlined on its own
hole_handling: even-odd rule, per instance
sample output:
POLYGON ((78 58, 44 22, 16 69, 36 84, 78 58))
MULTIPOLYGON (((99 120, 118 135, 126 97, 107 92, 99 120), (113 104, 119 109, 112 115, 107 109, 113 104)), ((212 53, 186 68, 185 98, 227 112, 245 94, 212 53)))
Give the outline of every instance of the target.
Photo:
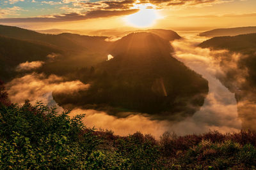
POLYGON ((142 21, 150 23, 144 26, 151 28, 193 31, 256 25, 255 0, 0 0, 0 24, 27 29, 139 28, 142 21, 136 24, 127 16, 141 10, 142 21))

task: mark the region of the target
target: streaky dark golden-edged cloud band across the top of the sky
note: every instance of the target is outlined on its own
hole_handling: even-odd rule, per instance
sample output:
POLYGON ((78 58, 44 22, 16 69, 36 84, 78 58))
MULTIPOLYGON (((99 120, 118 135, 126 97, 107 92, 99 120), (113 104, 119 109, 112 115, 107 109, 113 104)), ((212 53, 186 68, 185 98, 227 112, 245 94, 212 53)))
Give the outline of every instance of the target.
MULTIPOLYGON (((12 0, 18 1, 18 0, 12 0)), ((45 4, 62 4, 61 10, 67 13, 60 15, 46 15, 42 17, 29 18, 1 18, 1 23, 12 22, 65 22, 74 20, 87 20, 91 18, 117 17, 136 13, 141 5, 145 8, 171 8, 172 6, 209 6, 213 4, 228 3, 233 0, 119 0, 119 1, 81 1, 81 0, 63 0, 63 1, 42 1, 45 4)), ((15 9, 13 9, 15 10, 15 9)), ((17 9, 16 9, 17 10, 17 9)), ((4 13, 11 13, 8 8, 3 9, 4 13), (5 10, 5 11, 4 11, 5 10), (7 11, 8 12, 7 12, 7 11)), ((13 12, 12 12, 13 13, 13 12)), ((14 13, 16 14, 16 13, 14 13)), ((1 15, 0 16, 6 16, 1 15)))

